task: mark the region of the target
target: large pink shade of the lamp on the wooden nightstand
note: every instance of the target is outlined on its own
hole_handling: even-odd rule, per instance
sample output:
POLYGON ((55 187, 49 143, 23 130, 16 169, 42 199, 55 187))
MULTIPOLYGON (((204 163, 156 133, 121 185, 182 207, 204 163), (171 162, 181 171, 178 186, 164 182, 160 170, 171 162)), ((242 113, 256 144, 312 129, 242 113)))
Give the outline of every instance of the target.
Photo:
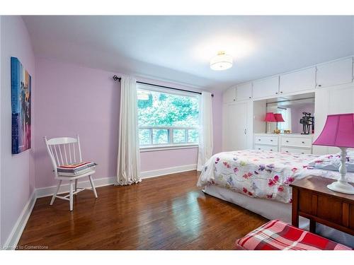
POLYGON ((328 115, 315 146, 354 148, 354 113, 328 115))

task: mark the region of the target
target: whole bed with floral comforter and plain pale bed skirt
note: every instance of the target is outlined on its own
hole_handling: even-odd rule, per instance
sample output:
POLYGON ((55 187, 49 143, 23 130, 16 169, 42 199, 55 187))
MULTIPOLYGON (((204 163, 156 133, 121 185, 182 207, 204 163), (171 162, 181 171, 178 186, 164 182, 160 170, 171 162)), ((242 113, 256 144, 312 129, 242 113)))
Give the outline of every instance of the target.
MULTIPOLYGON (((229 201, 268 219, 291 223, 292 189, 295 179, 317 175, 338 179, 334 170, 321 170, 309 165, 318 155, 243 150, 213 155, 205 163, 198 187, 203 192, 229 201)), ((347 178, 354 182, 354 173, 347 178)), ((300 218, 300 228, 307 228, 307 219, 300 218)), ((317 224, 316 231, 331 240, 354 247, 354 237, 317 224)))

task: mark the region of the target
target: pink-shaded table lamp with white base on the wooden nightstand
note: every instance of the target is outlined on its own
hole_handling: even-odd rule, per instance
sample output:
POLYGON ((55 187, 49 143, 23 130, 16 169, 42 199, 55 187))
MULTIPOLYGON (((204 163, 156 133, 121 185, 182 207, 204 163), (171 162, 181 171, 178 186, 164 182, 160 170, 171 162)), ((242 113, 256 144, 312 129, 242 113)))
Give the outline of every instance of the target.
POLYGON ((328 115, 324 129, 313 143, 315 146, 337 146, 341 149, 341 179, 327 188, 346 194, 354 194, 354 187, 346 180, 347 148, 354 148, 354 113, 328 115))

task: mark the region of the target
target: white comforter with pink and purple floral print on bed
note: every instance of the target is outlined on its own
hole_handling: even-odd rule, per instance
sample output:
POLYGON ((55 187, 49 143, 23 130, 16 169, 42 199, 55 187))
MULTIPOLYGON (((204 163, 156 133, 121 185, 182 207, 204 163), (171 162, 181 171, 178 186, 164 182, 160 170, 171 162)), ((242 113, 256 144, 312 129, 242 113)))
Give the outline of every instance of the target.
MULTIPOLYGON (((205 163, 198 187, 217 185, 246 196, 291 203, 295 179, 318 175, 337 179, 338 172, 318 170, 309 162, 318 155, 243 150, 217 153, 205 163)), ((354 173, 348 172, 350 182, 354 173)))

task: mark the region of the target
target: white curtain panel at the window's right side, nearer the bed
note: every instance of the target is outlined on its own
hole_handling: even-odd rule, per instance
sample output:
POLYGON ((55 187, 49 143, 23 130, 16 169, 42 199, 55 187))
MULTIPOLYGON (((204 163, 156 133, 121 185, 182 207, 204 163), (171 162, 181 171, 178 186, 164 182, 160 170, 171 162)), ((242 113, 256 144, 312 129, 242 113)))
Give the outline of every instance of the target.
POLYGON ((202 166, 212 156, 212 94, 202 92, 199 106, 200 129, 197 170, 202 171, 202 166))

